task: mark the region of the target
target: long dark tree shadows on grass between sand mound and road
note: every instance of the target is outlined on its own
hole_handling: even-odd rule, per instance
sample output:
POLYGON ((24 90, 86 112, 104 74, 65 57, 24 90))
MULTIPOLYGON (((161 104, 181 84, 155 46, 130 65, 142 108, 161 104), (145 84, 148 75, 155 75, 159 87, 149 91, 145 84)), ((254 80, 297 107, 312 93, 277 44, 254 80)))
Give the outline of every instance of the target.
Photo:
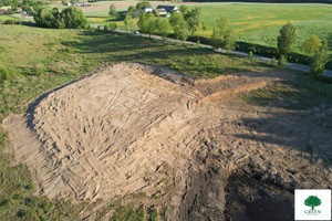
MULTIPOLYGON (((167 66, 177 71, 180 70, 172 65, 180 63, 181 61, 178 60, 180 57, 188 57, 193 55, 208 56, 217 54, 211 49, 199 48, 196 45, 146 39, 144 36, 132 34, 103 33, 102 31, 83 32, 82 36, 79 36, 77 40, 62 42, 62 44, 73 48, 77 53, 94 54, 108 62, 141 62, 167 66)), ((236 57, 235 55, 228 56, 234 59, 236 57)), ((185 66, 187 72, 197 71, 197 66, 185 66)), ((250 70, 237 66, 207 66, 204 71, 218 73, 219 75, 232 72, 250 72, 250 70)))

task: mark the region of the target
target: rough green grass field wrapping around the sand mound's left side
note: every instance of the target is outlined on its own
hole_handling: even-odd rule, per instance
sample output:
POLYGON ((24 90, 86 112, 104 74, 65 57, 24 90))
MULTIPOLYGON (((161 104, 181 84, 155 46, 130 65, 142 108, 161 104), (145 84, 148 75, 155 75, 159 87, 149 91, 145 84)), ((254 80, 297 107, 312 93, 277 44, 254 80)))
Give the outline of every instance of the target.
MULTIPOLYGON (((127 34, 1 25, 0 39, 0 67, 13 75, 0 80, 0 120, 10 113, 24 113, 28 104, 45 91, 91 73, 105 62, 163 65, 193 77, 273 69, 212 50, 127 34)), ((30 171, 23 165, 11 165, 11 156, 2 152, 6 145, 0 128, 0 220, 76 220, 87 203, 33 197, 30 171)), ((134 210, 126 211, 132 214, 134 210)))

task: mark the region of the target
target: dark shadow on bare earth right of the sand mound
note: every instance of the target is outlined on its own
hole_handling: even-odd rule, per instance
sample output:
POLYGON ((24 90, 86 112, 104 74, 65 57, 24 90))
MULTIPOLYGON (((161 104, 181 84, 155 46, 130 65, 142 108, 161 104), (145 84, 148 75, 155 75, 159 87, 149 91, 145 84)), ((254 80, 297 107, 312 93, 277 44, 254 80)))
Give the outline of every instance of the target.
POLYGON ((331 130, 311 120, 309 115, 263 113, 266 117, 243 117, 238 126, 250 133, 235 135, 241 139, 259 141, 297 150, 311 161, 332 162, 331 130))

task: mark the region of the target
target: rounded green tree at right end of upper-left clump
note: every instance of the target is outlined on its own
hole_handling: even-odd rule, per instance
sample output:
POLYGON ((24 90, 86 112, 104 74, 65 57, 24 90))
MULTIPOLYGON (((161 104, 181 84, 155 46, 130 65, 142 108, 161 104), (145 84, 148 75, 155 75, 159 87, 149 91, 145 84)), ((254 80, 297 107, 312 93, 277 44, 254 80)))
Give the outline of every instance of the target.
POLYGON ((68 29, 84 29, 87 23, 83 11, 76 7, 69 7, 62 10, 61 18, 68 29))

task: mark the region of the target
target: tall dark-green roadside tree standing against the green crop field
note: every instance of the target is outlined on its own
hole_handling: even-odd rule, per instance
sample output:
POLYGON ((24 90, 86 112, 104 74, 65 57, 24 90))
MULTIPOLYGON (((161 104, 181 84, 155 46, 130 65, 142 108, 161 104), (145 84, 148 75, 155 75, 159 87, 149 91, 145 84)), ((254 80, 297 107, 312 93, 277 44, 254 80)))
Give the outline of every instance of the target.
POLYGON ((280 35, 277 39, 279 55, 287 56, 287 54, 292 51, 291 46, 297 36, 295 32, 297 28, 293 27, 290 22, 288 22, 280 29, 280 35))

